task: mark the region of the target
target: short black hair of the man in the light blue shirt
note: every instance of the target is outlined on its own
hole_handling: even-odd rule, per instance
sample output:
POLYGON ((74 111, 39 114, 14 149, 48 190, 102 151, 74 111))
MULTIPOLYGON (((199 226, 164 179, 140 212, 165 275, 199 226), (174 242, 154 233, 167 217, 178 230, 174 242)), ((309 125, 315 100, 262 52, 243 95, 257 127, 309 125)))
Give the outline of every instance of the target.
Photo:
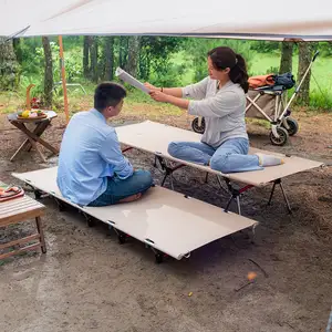
POLYGON ((94 91, 94 108, 102 112, 106 107, 116 106, 126 95, 126 90, 117 83, 101 83, 94 91))

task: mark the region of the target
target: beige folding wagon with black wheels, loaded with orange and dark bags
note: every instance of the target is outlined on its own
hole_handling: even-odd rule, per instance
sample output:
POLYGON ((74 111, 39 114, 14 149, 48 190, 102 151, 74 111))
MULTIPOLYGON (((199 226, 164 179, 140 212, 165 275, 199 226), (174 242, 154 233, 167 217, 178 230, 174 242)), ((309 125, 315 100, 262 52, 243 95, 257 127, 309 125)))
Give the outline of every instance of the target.
MULTIPOLYGON (((267 120, 271 124, 270 141, 273 145, 287 144, 289 136, 295 135, 299 131, 299 124, 291 117, 289 106, 299 93, 318 54, 319 52, 315 52, 313 55, 300 84, 286 105, 284 94, 295 85, 291 73, 253 76, 248 80, 246 116, 267 120)), ((191 127, 194 132, 203 134, 205 132, 204 117, 194 118, 191 127)))

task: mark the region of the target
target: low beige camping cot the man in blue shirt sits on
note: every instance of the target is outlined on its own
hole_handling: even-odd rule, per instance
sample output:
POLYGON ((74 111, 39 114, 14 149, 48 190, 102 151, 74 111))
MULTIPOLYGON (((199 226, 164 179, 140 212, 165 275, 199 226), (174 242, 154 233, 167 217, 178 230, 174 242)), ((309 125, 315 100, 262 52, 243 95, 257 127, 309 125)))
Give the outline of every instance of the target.
POLYGON ((37 198, 46 193, 59 207, 71 205, 83 212, 87 225, 92 218, 107 224, 123 243, 127 236, 151 248, 156 262, 165 255, 177 260, 211 241, 243 229, 255 235, 257 221, 181 195, 160 186, 149 188, 137 201, 105 207, 79 206, 65 199, 56 186, 58 167, 12 174, 33 187, 37 198))

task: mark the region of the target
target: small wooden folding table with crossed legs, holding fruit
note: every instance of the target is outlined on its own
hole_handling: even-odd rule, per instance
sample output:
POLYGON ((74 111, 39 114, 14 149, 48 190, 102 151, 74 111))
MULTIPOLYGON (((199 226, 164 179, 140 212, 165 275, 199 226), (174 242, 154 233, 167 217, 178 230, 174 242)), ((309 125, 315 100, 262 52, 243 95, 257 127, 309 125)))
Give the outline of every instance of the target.
POLYGON ((59 149, 52 146, 50 143, 45 142, 43 138, 41 138, 41 135, 43 132, 51 125, 51 121, 58 116, 58 114, 54 111, 43 111, 43 113, 46 114, 46 117, 44 118, 18 118, 18 113, 12 113, 8 115, 8 121, 15 126, 18 129, 20 129, 27 138, 24 142, 20 145, 20 147, 17 149, 17 152, 11 156, 10 160, 12 162, 20 152, 28 151, 30 152, 33 147, 39 155, 41 156, 42 160, 46 163, 45 156, 40 151, 38 143, 43 145, 45 148, 52 152, 52 155, 59 154, 59 149), (33 124, 34 129, 31 131, 27 127, 27 124, 33 124))

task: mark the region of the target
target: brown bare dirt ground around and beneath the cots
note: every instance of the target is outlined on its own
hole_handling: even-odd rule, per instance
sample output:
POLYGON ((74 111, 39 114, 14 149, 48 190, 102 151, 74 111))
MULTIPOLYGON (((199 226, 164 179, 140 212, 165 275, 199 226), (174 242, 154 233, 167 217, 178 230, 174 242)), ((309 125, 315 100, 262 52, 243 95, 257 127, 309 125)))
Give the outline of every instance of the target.
MULTIPOLYGON (((284 147, 271 146, 269 131, 251 121, 251 145, 331 165, 332 116, 295 117, 300 132, 284 147)), ((120 122, 138 120, 124 115, 120 122)), ((189 128, 190 120, 183 115, 158 121, 189 128)), ((44 137, 59 146, 63 124, 60 115, 44 137)), ((0 128, 1 180, 18 183, 12 172, 56 163, 53 158, 43 164, 35 152, 9 162, 23 136, 4 115, 0 128)), ((132 152, 128 157, 136 168, 151 169, 159 184, 162 174, 152 166, 151 155, 132 152)), ((175 179, 175 190, 225 207, 228 196, 212 177, 204 186, 204 175, 184 168, 175 179)), ((198 249, 189 259, 162 264, 139 241, 121 246, 105 225, 89 228, 77 212, 60 212, 52 199, 42 199, 48 253, 0 262, 0 331, 325 331, 332 304, 331 167, 288 177, 284 188, 291 216, 279 190, 271 206, 270 187, 242 197, 243 215, 260 222, 255 243, 239 232, 198 249), (256 281, 238 290, 250 271, 258 274, 256 281)), ((32 227, 2 228, 0 242, 32 227)))

